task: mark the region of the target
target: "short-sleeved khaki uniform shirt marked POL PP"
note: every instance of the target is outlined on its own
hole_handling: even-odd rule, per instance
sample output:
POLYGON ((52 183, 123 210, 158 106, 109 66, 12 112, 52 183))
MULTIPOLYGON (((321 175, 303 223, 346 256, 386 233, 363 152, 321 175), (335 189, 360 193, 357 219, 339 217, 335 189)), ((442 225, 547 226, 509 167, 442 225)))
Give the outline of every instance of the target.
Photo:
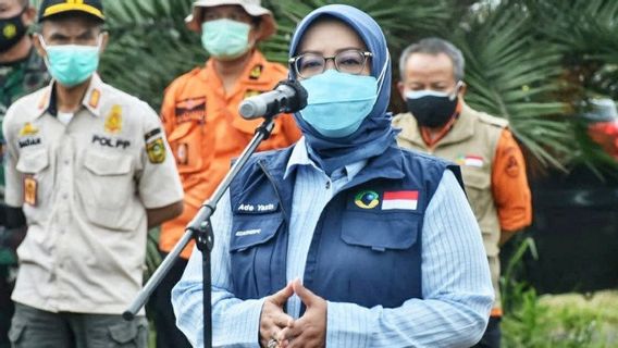
POLYGON ((146 209, 183 199, 157 113, 95 75, 64 125, 53 85, 3 124, 7 195, 28 232, 13 300, 50 312, 120 314, 141 287, 146 209))

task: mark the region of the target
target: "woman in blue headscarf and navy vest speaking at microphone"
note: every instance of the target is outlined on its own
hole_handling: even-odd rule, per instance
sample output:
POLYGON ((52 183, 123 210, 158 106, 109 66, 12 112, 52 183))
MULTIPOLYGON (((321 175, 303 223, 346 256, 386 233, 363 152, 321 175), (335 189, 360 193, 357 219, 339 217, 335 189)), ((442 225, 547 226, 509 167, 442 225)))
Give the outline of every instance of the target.
MULTIPOLYGON (((378 24, 347 5, 310 13, 291 77, 304 137, 258 153, 212 219, 214 346, 469 347, 493 301, 458 167, 399 149, 378 24)), ((201 254, 173 290, 201 346, 201 254)))

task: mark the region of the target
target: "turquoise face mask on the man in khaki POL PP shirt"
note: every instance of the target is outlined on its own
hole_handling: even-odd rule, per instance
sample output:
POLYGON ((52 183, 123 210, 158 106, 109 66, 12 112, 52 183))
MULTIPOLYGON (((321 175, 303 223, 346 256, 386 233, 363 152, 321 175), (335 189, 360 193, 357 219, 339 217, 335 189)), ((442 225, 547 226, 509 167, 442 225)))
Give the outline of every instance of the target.
POLYGON ((62 86, 74 87, 88 79, 99 66, 101 40, 97 46, 58 45, 47 46, 40 37, 47 52, 45 59, 51 76, 62 86))

